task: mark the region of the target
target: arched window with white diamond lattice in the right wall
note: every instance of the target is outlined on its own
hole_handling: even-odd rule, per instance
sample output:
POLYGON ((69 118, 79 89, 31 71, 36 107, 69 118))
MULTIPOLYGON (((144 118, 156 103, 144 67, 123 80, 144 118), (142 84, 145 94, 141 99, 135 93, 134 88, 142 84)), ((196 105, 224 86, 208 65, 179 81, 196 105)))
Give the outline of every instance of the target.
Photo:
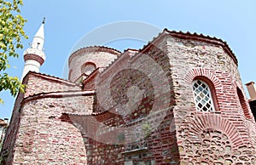
POLYGON ((192 83, 196 111, 215 111, 211 89, 204 81, 195 79, 192 83))

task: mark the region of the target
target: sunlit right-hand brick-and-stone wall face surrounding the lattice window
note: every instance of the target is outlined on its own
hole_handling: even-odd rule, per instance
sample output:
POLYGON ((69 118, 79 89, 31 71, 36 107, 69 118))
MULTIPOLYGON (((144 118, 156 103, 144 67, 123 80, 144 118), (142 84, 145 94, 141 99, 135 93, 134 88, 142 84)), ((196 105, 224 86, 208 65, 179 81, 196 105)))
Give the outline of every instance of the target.
POLYGON ((230 54, 211 43, 175 37, 168 37, 166 43, 177 94, 174 116, 181 163, 254 164, 255 123, 247 100, 248 112, 241 107, 236 88, 240 88, 242 94, 244 90, 230 54), (195 110, 191 84, 196 77, 207 77, 212 82, 216 111, 195 110), (251 126, 247 127, 247 122, 251 126))

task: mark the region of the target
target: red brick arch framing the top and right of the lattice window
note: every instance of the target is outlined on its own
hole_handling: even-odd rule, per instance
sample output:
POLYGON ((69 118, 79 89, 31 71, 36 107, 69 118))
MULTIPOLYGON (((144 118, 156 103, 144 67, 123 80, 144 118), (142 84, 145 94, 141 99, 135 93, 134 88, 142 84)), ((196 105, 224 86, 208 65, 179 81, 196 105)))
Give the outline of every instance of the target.
POLYGON ((215 111, 219 111, 218 108, 218 94, 221 94, 221 83, 219 82, 218 78, 212 74, 209 69, 202 69, 202 68, 194 68, 191 69, 184 77, 186 83, 193 85, 195 80, 201 80, 210 88, 212 101, 214 105, 215 111))

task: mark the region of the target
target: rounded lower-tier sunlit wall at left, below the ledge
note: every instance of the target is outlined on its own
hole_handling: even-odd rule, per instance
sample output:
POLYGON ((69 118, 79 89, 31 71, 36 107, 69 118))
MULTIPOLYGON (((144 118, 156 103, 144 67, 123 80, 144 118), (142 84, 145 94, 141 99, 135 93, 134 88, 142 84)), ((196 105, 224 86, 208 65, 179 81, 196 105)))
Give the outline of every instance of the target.
POLYGON ((86 164, 82 134, 62 113, 88 115, 93 96, 44 98, 27 102, 21 110, 20 126, 15 141, 14 164, 86 164))

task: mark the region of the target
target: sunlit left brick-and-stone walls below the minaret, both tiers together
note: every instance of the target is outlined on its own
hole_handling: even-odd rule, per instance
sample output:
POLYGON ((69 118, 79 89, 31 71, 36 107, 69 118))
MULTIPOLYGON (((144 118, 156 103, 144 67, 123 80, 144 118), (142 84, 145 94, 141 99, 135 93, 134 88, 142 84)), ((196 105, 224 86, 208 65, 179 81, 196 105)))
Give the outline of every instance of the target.
POLYGON ((15 102, 3 145, 3 149, 8 152, 7 164, 22 162, 49 164, 49 162, 54 162, 53 160, 61 162, 61 154, 69 153, 67 152, 69 147, 71 147, 72 154, 64 156, 63 162, 68 162, 73 158, 76 160, 73 162, 86 162, 86 158, 80 159, 80 157, 85 157, 86 153, 79 130, 70 123, 62 123, 58 118, 65 112, 80 115, 91 113, 93 96, 67 93, 67 97, 62 98, 63 90, 77 91, 80 87, 74 83, 39 73, 31 72, 26 78, 28 79, 26 94, 24 96, 20 93, 15 102), (38 94, 42 97, 36 98, 38 94), (83 153, 84 156, 82 156, 83 153))

